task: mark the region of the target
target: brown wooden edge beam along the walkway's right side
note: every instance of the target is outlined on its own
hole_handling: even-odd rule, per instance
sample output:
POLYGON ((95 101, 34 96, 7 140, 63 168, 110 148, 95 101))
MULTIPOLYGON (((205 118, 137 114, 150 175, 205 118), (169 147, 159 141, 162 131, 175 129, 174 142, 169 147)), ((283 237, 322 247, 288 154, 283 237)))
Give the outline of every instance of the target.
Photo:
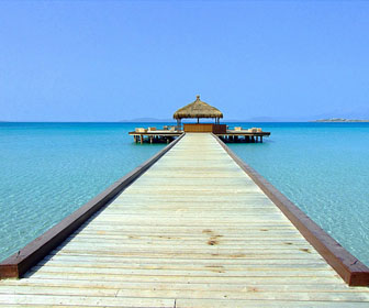
POLYGON ((213 136, 349 286, 369 286, 368 266, 351 255, 298 206, 241 160, 217 135, 213 134, 213 136))

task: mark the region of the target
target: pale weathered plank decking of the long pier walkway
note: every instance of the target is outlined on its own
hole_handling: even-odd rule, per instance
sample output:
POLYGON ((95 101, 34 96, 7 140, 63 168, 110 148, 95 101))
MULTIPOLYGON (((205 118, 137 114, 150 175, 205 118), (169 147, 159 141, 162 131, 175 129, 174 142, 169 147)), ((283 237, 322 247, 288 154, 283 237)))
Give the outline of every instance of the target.
POLYGON ((369 307, 211 134, 187 134, 5 307, 369 307))

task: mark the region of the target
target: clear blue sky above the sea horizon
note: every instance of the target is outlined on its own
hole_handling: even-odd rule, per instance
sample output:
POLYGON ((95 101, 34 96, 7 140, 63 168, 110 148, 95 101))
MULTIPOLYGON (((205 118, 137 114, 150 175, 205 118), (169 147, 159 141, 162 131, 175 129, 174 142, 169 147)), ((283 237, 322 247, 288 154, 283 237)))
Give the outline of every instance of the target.
POLYGON ((0 120, 369 118, 368 1, 1 1, 0 120))

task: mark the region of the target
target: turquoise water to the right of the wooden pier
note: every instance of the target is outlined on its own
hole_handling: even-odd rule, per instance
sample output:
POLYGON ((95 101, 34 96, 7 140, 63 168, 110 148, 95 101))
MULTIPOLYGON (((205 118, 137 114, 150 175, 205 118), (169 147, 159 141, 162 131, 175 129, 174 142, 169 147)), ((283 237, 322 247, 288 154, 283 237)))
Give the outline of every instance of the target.
POLYGON ((271 136, 230 147, 369 265, 369 123, 249 125, 271 136))

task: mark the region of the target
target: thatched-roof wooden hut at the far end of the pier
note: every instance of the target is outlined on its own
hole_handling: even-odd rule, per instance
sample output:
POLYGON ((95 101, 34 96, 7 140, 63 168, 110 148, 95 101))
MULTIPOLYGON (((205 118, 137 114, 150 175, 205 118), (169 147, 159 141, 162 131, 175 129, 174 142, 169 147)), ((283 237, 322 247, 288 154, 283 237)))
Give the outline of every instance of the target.
POLYGON ((174 119, 177 120, 177 127, 181 127, 182 119, 198 119, 195 124, 185 124, 185 132, 213 132, 213 133, 223 133, 226 131, 226 125, 220 124, 220 119, 223 118, 223 113, 215 107, 210 106, 209 103, 200 100, 200 96, 197 96, 195 101, 178 109, 174 119), (215 123, 201 123, 200 118, 210 118, 215 119, 215 123))

